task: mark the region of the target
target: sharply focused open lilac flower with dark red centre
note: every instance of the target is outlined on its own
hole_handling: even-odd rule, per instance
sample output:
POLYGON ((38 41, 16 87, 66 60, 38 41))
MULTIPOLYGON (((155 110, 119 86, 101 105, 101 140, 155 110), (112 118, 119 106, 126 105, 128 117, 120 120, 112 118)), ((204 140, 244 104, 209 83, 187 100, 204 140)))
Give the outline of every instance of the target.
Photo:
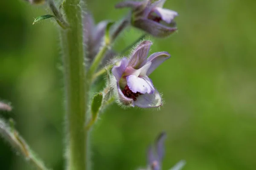
POLYGON ((123 105, 152 108, 162 105, 159 92, 148 76, 166 59, 167 52, 157 52, 147 58, 152 42, 142 41, 131 54, 130 59, 124 57, 112 68, 114 84, 119 101, 123 105))

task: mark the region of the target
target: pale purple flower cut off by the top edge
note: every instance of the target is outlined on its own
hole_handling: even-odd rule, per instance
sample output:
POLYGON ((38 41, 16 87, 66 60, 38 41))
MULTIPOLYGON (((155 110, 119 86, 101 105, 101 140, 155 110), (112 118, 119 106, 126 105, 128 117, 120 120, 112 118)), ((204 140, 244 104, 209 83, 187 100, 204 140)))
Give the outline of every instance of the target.
POLYGON ((155 37, 167 37, 177 30, 174 18, 176 11, 163 8, 166 0, 125 1, 116 8, 132 8, 131 24, 155 37))

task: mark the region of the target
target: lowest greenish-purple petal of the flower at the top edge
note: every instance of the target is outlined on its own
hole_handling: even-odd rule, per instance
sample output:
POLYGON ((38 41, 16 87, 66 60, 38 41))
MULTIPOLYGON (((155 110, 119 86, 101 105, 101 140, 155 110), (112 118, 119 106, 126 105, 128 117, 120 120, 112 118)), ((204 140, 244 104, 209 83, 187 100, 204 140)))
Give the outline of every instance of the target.
POLYGON ((134 21, 134 26, 155 37, 167 37, 177 30, 177 28, 164 26, 163 24, 157 23, 153 20, 143 18, 134 21))

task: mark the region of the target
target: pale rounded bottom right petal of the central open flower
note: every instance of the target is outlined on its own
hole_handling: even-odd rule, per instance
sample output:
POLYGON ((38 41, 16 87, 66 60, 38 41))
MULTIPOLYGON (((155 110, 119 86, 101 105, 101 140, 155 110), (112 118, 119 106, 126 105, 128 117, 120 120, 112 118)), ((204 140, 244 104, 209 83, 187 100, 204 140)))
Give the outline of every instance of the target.
POLYGON ((155 89, 154 94, 143 94, 137 97, 134 105, 140 108, 154 108, 162 105, 162 99, 159 92, 155 89))

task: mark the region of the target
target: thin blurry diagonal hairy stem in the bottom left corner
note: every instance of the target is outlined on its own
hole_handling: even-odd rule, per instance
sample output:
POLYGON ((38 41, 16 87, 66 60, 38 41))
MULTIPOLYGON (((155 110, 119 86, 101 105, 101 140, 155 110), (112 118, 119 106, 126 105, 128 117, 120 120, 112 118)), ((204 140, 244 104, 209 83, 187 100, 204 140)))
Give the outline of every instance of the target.
POLYGON ((37 170, 48 170, 44 163, 35 157, 35 154, 33 154, 28 144, 26 144, 25 140, 19 135, 14 127, 9 127, 9 125, 7 125, 1 118, 0 135, 3 136, 3 138, 6 139, 18 152, 22 153, 25 160, 29 161, 37 170))

